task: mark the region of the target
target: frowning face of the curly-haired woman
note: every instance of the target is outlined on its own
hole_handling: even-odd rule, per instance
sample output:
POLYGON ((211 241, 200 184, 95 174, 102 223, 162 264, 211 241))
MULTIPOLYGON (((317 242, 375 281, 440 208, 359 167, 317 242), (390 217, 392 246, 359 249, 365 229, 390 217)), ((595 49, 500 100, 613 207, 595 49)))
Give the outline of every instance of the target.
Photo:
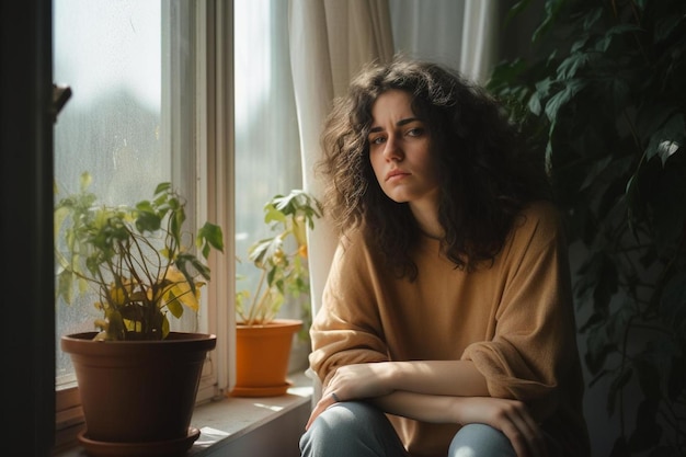
POLYGON ((438 167, 431 152, 424 123, 412 112, 412 96, 389 90, 371 107, 369 160, 384 193, 413 210, 435 208, 438 201, 438 167), (428 206, 426 206, 428 205, 428 206))

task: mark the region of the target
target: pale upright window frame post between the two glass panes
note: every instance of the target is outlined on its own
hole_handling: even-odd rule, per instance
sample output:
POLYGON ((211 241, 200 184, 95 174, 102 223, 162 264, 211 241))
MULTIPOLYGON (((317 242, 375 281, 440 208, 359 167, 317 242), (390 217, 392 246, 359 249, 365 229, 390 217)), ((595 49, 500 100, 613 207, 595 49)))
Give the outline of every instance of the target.
MULTIPOLYGON (((183 2, 183 0, 180 0, 183 2)), ((204 0, 195 3, 197 30, 196 151, 198 152, 197 197, 199 220, 221 225, 224 254, 210 259, 213 281, 208 284, 208 331, 218 339, 210 353, 214 376, 204 376, 198 401, 230 391, 235 384, 236 359, 236 252, 233 186, 233 2, 204 0)), ((207 372, 207 370, 206 370, 207 372)))

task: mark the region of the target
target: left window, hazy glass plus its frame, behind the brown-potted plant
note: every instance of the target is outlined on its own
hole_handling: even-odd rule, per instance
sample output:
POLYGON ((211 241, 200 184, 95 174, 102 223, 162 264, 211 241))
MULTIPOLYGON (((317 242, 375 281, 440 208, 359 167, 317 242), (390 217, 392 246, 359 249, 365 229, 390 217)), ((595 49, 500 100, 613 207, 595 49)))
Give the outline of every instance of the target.
MULTIPOLYGON (((227 248, 210 264, 198 317, 171 322, 174 330, 218 336, 198 391, 198 401, 206 400, 228 384, 232 334, 230 3, 54 0, 53 12, 54 80, 72 89, 54 130, 58 188, 78 191, 88 171, 92 191, 105 201, 134 203, 171 181, 188 201, 188 219, 224 228, 227 248)), ((55 307, 57 448, 80 420, 59 338, 92 330, 83 315, 90 301, 55 307)))

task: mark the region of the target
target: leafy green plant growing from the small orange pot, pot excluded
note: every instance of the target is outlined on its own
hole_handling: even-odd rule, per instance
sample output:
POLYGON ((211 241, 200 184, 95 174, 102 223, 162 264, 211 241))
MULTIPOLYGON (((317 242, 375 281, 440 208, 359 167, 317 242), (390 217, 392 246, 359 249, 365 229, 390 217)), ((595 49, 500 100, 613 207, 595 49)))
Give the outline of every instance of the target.
POLYGON ((252 294, 245 289, 236 294, 239 323, 271 322, 288 297, 305 299, 304 317, 309 317, 306 229, 313 229, 315 219, 321 215, 321 204, 301 190, 275 195, 264 205, 264 222, 274 235, 254 242, 248 251, 250 261, 260 270, 260 279, 252 294))

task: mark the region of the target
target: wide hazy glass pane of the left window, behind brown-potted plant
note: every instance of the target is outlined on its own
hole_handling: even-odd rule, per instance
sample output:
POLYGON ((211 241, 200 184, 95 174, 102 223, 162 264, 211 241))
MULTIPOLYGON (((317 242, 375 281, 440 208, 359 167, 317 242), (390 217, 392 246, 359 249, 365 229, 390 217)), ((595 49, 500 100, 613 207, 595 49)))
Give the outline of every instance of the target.
MULTIPOLYGON (((55 125, 60 193, 77 192, 88 171, 91 191, 103 201, 132 204, 170 179, 160 138, 160 0, 55 0, 55 81, 73 92, 55 125)), ((58 384, 72 372, 59 338, 93 330, 91 302, 93 297, 56 302, 58 384)))

